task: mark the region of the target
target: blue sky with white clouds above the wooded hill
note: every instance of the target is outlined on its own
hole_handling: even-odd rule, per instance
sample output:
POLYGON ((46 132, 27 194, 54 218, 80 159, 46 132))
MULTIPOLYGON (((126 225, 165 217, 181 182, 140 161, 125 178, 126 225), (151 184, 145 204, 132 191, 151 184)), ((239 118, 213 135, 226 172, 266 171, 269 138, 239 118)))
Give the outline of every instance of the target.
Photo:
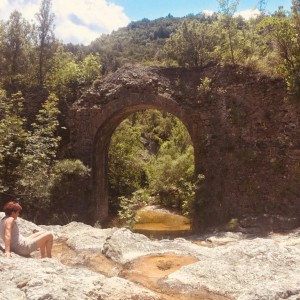
MULTIPOLYGON (((0 0, 0 20, 6 21, 18 10, 28 21, 35 20, 42 0, 0 0)), ((279 5, 290 9, 292 0, 266 0, 267 12, 279 5)), ((258 0, 240 0, 237 8, 249 16, 258 0)), ((218 11, 217 0, 52 0, 55 14, 55 34, 64 43, 88 45, 101 34, 111 33, 131 21, 165 17, 183 17, 200 11, 218 11)))

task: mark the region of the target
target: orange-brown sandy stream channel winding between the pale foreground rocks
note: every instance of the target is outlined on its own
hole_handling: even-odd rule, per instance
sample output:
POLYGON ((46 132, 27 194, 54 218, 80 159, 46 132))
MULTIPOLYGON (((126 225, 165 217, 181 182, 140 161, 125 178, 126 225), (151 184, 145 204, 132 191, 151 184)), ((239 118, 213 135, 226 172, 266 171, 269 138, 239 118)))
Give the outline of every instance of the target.
MULTIPOLYGON (((64 243, 54 242, 53 257, 61 263, 72 267, 88 268, 107 277, 118 276, 152 290, 164 300, 228 300, 229 298, 215 295, 206 290, 197 294, 186 294, 184 291, 168 288, 159 284, 160 279, 171 274, 182 266, 194 263, 196 258, 174 254, 149 255, 140 257, 133 262, 121 266, 102 254, 80 253, 70 249, 64 243)), ((39 257, 36 252, 34 257, 39 257)))

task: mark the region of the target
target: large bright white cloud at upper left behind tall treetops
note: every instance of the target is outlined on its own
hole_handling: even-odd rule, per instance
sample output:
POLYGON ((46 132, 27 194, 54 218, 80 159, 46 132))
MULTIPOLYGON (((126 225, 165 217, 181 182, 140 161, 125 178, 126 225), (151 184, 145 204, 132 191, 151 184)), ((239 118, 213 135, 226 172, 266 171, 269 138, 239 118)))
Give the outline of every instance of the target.
MULTIPOLYGON (((41 0, 0 0, 0 19, 18 10, 28 21, 35 20, 41 0)), ((64 43, 89 44, 102 33, 126 26, 130 19, 123 7, 108 0, 52 0, 55 35, 64 43)))

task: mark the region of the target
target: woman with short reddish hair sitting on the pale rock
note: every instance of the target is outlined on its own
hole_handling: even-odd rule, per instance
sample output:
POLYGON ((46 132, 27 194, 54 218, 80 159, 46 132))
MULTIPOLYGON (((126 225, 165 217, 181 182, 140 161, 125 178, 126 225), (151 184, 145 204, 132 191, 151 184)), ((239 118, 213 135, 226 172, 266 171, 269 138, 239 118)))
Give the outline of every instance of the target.
POLYGON ((4 205, 5 216, 0 220, 0 236, 5 245, 5 256, 10 257, 11 251, 22 256, 29 256, 31 252, 40 249, 41 258, 51 257, 53 234, 49 231, 39 231, 29 237, 19 234, 16 222, 22 207, 15 201, 4 205))

